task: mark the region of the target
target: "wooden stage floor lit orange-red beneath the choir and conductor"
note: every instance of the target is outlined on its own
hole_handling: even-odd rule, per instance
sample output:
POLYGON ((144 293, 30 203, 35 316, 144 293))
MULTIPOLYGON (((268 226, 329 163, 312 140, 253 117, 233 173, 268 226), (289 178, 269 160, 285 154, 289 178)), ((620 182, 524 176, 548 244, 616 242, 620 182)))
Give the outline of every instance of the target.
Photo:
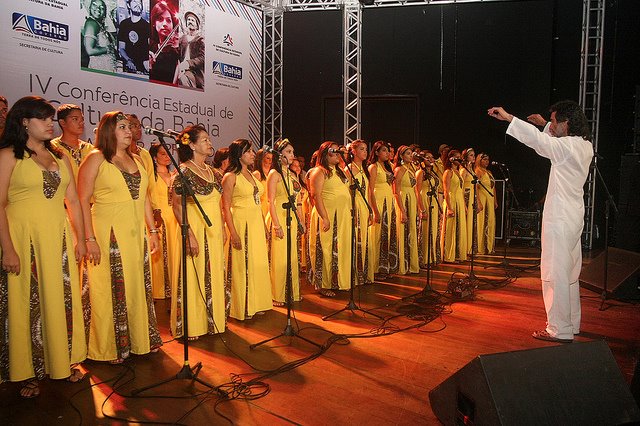
MULTIPOLYGON (((302 337, 322 345, 323 353, 297 337, 249 348, 285 329, 285 308, 244 322, 229 320, 224 334, 192 342, 189 360, 191 365, 202 363, 200 379, 224 384, 231 401, 188 380, 130 396, 133 389, 174 376, 183 365, 183 345, 172 341, 168 331, 170 303, 157 301, 167 341, 160 352, 132 356, 120 366, 86 362, 89 374, 81 383, 46 380, 41 395, 31 400, 18 396, 17 384, 4 383, 0 423, 439 424, 429 391, 476 356, 556 345, 531 337, 545 325, 536 267, 539 249, 512 248, 509 254, 511 263, 531 268, 505 279, 504 269, 484 268, 502 257, 480 257, 474 272, 489 282, 477 282, 467 300, 445 291, 452 276, 468 273, 468 263, 435 268, 431 287, 436 292, 421 303, 403 298, 423 290, 425 271, 358 287, 357 305, 384 321, 358 311, 323 321, 324 315, 347 305, 349 294, 326 298, 305 281, 304 300, 294 304, 291 321, 302 337)), ((640 305, 611 300, 600 311, 598 293, 582 289, 581 296, 582 333, 576 341, 605 339, 624 379, 631 382, 640 355, 640 305)))

